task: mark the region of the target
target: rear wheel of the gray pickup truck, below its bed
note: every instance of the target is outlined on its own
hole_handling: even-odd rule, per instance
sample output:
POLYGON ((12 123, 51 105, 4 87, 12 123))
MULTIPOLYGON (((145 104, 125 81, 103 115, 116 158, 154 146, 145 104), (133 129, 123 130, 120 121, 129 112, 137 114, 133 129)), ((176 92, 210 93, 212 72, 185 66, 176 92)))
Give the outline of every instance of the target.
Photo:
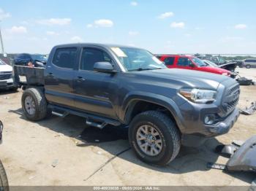
POLYGON ((23 112, 27 119, 38 121, 44 119, 48 114, 47 101, 42 90, 29 88, 23 92, 21 98, 23 112), (29 101, 31 104, 29 105, 29 101))

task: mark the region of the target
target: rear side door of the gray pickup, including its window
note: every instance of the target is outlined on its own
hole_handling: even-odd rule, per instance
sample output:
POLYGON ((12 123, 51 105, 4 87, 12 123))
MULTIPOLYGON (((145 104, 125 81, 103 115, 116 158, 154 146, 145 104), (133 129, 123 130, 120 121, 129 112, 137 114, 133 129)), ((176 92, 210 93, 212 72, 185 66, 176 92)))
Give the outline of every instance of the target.
POLYGON ((50 104, 74 107, 74 67, 78 62, 77 47, 53 50, 45 69, 45 96, 50 104))

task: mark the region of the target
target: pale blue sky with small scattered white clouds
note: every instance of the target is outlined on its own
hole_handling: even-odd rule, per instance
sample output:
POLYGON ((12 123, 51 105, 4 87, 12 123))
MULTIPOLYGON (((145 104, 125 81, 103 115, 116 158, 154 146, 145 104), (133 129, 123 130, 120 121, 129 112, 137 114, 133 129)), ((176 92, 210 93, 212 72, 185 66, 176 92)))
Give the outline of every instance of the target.
POLYGON ((7 53, 97 42, 153 53, 256 53, 255 0, 0 0, 7 53))

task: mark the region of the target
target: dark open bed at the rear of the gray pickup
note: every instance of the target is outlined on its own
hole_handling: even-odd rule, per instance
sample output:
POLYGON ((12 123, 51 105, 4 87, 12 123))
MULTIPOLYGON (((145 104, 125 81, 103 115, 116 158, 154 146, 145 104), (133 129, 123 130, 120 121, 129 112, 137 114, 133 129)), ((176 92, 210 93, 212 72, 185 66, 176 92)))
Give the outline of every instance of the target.
POLYGON ((45 85, 44 68, 13 66, 13 71, 16 85, 45 85), (26 82, 20 81, 20 77, 26 77, 26 82))

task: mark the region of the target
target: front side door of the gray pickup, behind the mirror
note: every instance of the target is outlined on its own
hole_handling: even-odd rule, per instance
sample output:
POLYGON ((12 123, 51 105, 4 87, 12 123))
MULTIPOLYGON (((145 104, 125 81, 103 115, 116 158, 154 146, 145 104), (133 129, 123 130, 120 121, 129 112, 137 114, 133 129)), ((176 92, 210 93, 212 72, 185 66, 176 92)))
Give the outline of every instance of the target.
MULTIPOLYGON (((75 107, 84 112, 116 118, 113 100, 118 90, 116 75, 94 71, 94 63, 110 62, 108 52, 99 47, 83 47, 75 74, 75 107)), ((115 64, 113 63, 115 68, 115 64)))

